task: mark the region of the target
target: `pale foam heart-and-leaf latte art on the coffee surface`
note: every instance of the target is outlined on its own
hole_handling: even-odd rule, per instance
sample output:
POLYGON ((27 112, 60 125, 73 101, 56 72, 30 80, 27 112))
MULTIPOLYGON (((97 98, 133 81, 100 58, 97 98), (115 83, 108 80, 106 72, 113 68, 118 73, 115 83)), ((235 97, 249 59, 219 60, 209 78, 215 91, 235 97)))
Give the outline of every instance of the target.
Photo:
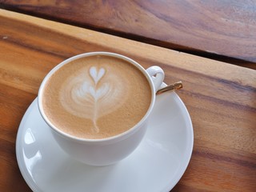
POLYGON ((122 86, 125 84, 126 79, 122 76, 103 67, 91 66, 89 70, 79 70, 76 77, 67 78, 59 97, 70 114, 89 118, 94 123, 91 130, 98 133, 98 118, 110 114, 125 102, 126 91, 122 86))

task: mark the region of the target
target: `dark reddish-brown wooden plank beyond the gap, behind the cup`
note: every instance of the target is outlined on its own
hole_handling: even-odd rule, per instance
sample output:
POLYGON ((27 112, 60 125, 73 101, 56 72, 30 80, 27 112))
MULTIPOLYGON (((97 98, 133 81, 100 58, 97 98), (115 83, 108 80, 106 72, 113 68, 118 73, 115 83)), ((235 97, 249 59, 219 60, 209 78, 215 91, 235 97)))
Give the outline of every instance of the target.
POLYGON ((256 1, 14 1, 0 7, 256 69, 256 1))

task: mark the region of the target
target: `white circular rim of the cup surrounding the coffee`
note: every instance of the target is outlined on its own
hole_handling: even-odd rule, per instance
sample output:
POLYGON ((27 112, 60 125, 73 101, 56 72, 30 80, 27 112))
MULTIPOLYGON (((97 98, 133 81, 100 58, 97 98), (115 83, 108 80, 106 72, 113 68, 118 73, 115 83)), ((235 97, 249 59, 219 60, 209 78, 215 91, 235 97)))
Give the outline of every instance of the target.
POLYGON ((149 115, 154 107, 154 102, 155 102, 155 87, 154 87, 152 78, 150 78, 150 75, 146 72, 146 70, 140 64, 138 64, 138 62, 135 62, 131 58, 128 58, 122 54, 115 54, 115 53, 105 52, 105 51, 88 52, 88 53, 74 55, 71 58, 65 59, 64 61, 60 62, 57 66, 55 66, 52 70, 50 70, 50 72, 48 74, 46 74, 46 77, 42 80, 42 83, 38 90, 38 109, 39 109, 39 112, 40 112, 42 118, 45 120, 46 124, 48 126, 50 126, 51 130, 54 130, 55 133, 60 134, 65 138, 75 140, 77 142, 110 142, 110 141, 115 141, 115 140, 124 139, 124 138, 129 137, 131 134, 134 134, 138 130, 138 128, 140 126, 142 126, 142 124, 144 122, 146 122, 146 119, 149 117, 149 115), (85 57, 90 57, 90 56, 94 56, 94 55, 106 55, 106 56, 110 56, 110 57, 114 57, 114 58, 121 58, 122 60, 125 60, 126 62, 130 62, 132 65, 136 66, 136 68, 138 70, 140 70, 142 72, 142 74, 144 74, 146 76, 146 79, 148 80, 148 82, 150 84, 151 102, 150 102, 150 106, 149 106, 148 110, 146 111, 146 114, 144 114, 144 116, 140 119, 140 121, 137 122, 136 125, 131 127, 129 130, 126 130, 126 131, 122 132, 121 134, 116 134, 116 135, 108 137, 108 138, 79 138, 74 135, 67 134, 62 130, 59 130, 56 126, 54 126, 53 123, 50 122, 50 120, 47 118, 46 114, 44 113, 44 110, 42 107, 42 93, 43 93, 43 90, 44 90, 47 80, 50 78, 50 76, 52 74, 54 74, 54 72, 56 70, 58 70, 62 66, 66 65, 67 63, 74 61, 78 58, 85 58, 85 57))

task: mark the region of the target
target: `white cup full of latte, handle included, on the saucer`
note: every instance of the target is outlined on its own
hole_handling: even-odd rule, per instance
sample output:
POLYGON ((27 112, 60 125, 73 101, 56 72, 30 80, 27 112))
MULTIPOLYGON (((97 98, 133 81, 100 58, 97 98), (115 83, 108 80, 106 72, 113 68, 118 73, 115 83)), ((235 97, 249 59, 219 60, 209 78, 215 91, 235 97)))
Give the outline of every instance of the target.
POLYGON ((164 72, 121 54, 79 54, 55 66, 38 91, 38 109, 62 150, 92 166, 131 154, 146 133, 164 72))

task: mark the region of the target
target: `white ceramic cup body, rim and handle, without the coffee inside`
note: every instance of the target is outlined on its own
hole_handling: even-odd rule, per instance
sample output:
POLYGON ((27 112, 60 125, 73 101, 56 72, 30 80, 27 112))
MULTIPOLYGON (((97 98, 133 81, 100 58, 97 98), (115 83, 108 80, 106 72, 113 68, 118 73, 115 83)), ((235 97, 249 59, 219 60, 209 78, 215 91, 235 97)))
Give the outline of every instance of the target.
POLYGON ((153 110, 155 102, 155 93, 162 85, 164 79, 164 72, 159 66, 151 66, 145 70, 142 66, 135 62, 134 60, 127 58, 121 54, 114 54, 109 52, 91 52, 86 54, 79 54, 72 58, 66 59, 64 62, 55 66, 53 70, 44 78, 42 85, 38 91, 38 108, 42 118, 50 126, 51 133, 54 135, 58 145, 62 147, 67 154, 70 154, 70 157, 77 159, 80 162, 84 162, 92 166, 106 166, 114 164, 126 158, 131 154, 142 141, 143 136, 146 133, 147 122, 150 117, 150 113, 153 110), (66 63, 74 61, 78 58, 88 57, 91 55, 107 55, 114 58, 121 58, 126 62, 129 62, 131 65, 134 65, 138 70, 142 71, 142 74, 146 76, 147 81, 150 84, 151 89, 151 102, 150 107, 147 110, 144 117, 129 130, 126 130, 122 134, 115 135, 110 138, 100 138, 100 139, 86 139, 74 137, 70 134, 64 133, 62 130, 59 130, 58 127, 55 127, 50 120, 46 117, 42 107, 42 90, 46 86, 46 82, 52 74, 59 68, 61 68, 66 63))

